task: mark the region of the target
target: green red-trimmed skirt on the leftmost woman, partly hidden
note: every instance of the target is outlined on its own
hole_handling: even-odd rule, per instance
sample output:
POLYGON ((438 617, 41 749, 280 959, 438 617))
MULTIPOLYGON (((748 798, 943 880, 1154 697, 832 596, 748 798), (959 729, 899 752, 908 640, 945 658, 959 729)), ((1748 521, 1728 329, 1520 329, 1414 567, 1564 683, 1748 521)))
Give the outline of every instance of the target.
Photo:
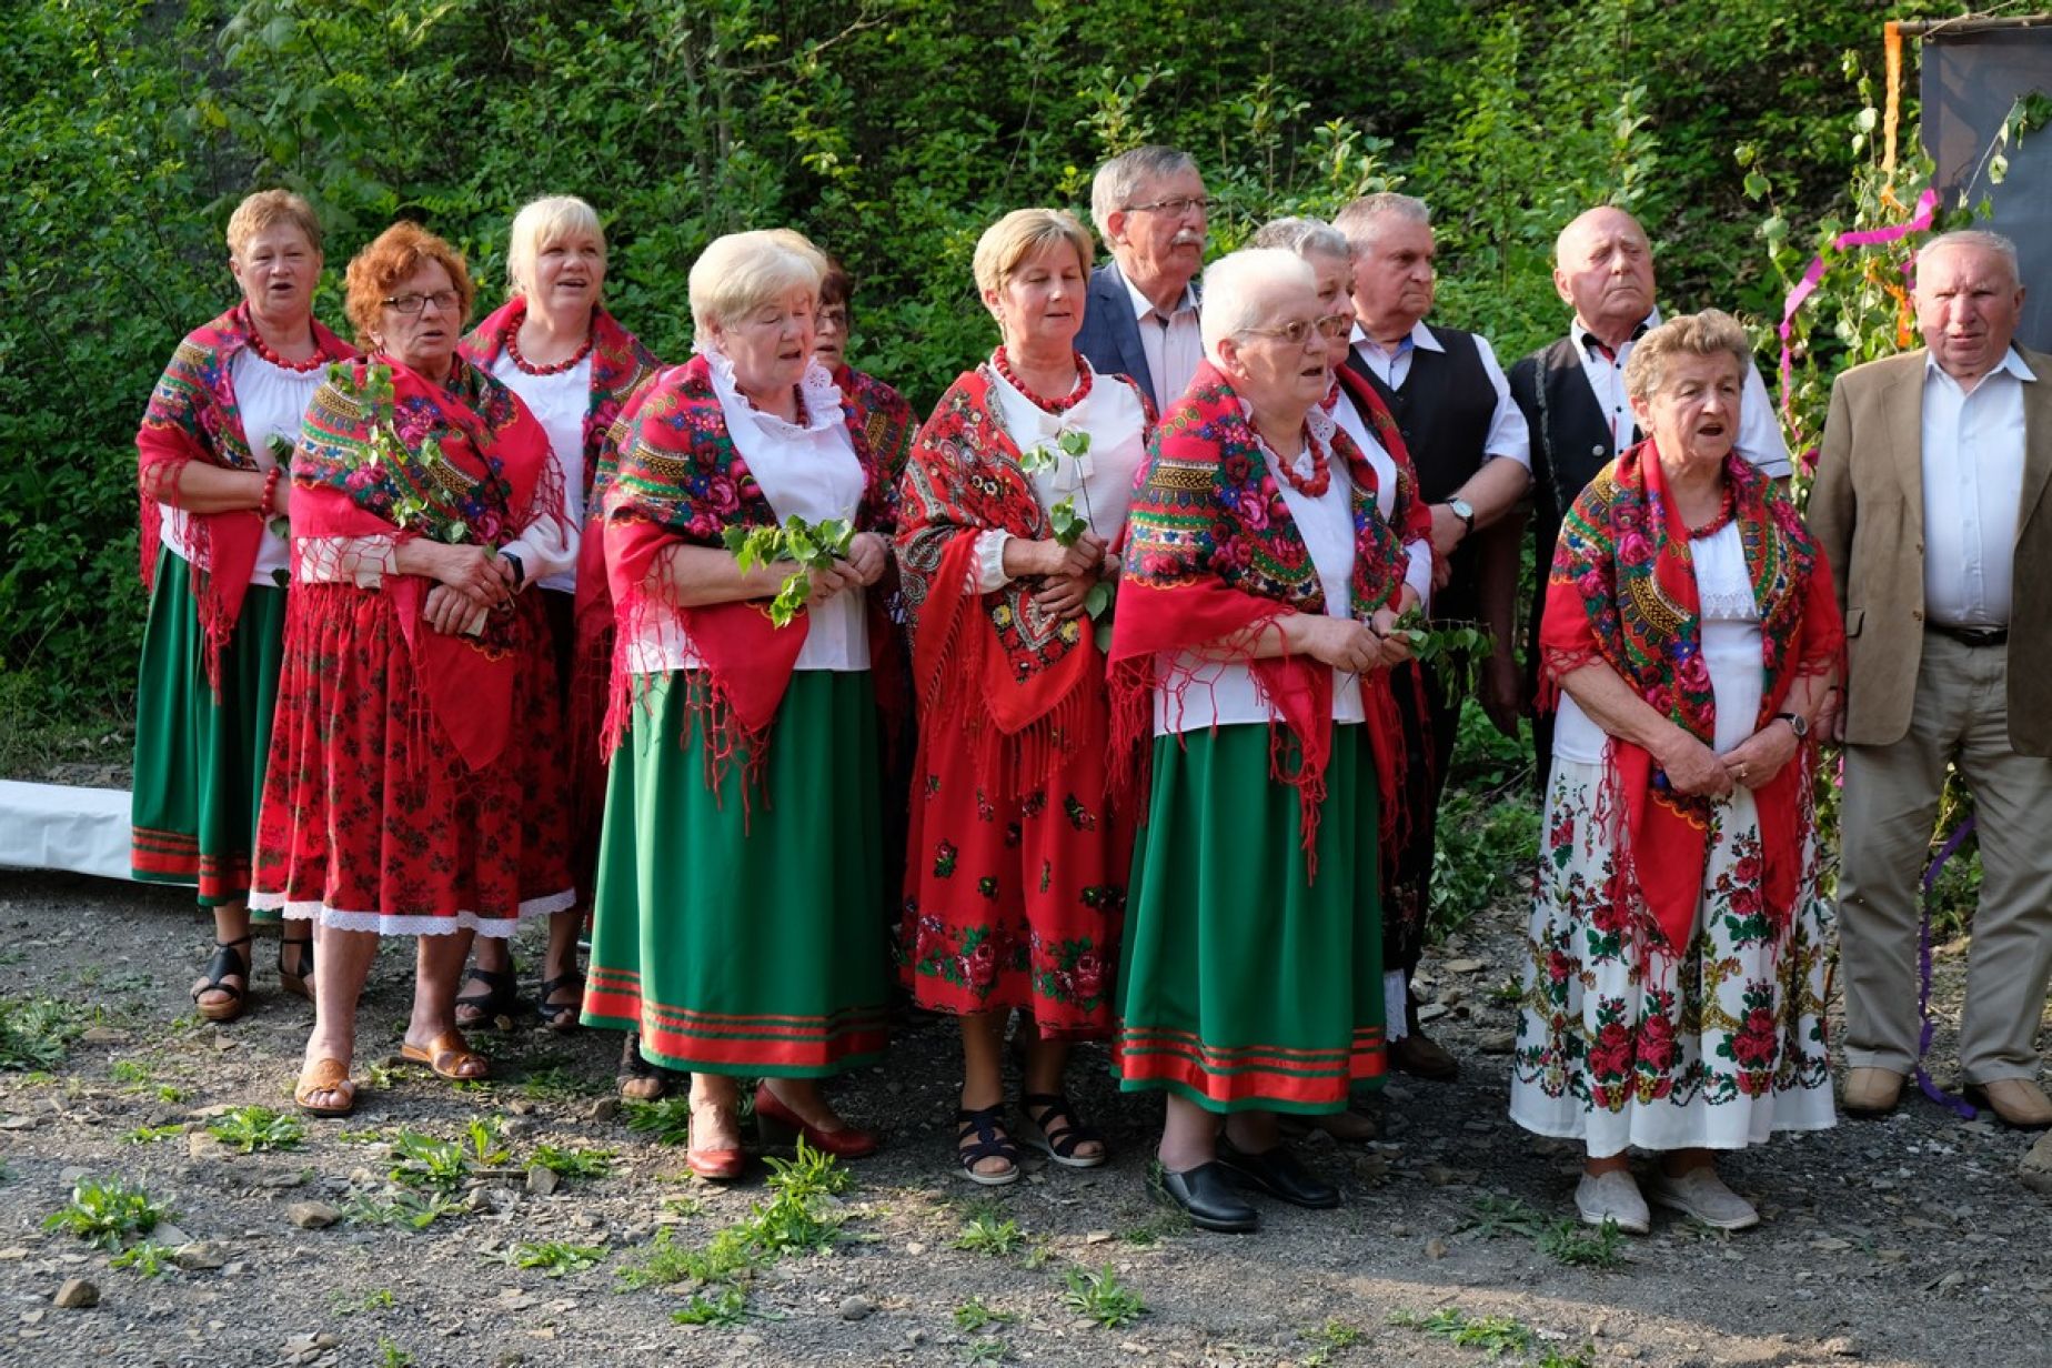
MULTIPOLYGON (((222 650, 215 699, 193 572, 164 548, 135 685, 129 872, 137 880, 197 886, 201 907, 248 896, 283 654, 285 591, 250 585, 222 650)), ((256 921, 277 921, 277 913, 256 921)))

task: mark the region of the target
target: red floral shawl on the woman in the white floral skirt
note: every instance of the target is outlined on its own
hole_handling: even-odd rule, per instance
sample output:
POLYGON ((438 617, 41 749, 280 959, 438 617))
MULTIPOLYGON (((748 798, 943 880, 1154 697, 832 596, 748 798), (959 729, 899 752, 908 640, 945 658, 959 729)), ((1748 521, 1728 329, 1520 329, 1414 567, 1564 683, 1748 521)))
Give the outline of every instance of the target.
MULTIPOLYGON (((1726 457, 1724 478, 1761 609, 1765 689, 1754 720, 1761 726, 1781 710, 1796 679, 1837 665, 1845 628, 1830 566, 1796 505, 1736 453, 1726 457)), ((1553 552, 1539 634, 1545 701, 1584 665, 1609 665, 1656 712, 1709 745, 1718 718, 1701 652, 1695 560, 1687 529, 1670 519, 1666 476, 1650 439, 1617 457, 1574 500, 1553 552)), ((1796 904, 1812 755, 1804 745, 1798 763, 1752 794, 1767 915, 1777 927, 1796 904)), ((1607 786, 1623 802, 1617 876, 1607 896, 1635 913, 1648 950, 1679 956, 1703 892, 1715 800, 1674 794, 1646 749, 1617 738, 1609 742, 1607 786)))

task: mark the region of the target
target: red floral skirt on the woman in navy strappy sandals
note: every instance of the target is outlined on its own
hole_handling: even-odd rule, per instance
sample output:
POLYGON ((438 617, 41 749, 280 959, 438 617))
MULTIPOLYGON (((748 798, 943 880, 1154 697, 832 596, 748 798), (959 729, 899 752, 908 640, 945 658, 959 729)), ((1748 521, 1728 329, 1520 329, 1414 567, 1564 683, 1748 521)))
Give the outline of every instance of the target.
POLYGON ((1038 777, 1018 742, 975 747, 921 718, 899 968, 930 1011, 1020 1007, 1044 1036, 1108 1036, 1133 824, 1106 798, 1104 691, 1038 777))

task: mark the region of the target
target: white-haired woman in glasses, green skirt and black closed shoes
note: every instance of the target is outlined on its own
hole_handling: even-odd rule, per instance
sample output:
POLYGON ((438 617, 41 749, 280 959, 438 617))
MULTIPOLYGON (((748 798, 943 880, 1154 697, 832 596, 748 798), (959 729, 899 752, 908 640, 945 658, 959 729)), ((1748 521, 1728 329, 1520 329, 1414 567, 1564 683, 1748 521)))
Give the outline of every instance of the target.
POLYGON ((1168 1093, 1163 1188, 1213 1231, 1256 1226, 1244 1190, 1336 1206, 1276 1114, 1383 1075, 1387 671, 1418 595, 1375 468, 1319 404, 1326 318, 1291 252, 1205 273, 1207 361, 1155 433, 1112 630, 1114 753, 1153 736, 1112 1069, 1168 1093))

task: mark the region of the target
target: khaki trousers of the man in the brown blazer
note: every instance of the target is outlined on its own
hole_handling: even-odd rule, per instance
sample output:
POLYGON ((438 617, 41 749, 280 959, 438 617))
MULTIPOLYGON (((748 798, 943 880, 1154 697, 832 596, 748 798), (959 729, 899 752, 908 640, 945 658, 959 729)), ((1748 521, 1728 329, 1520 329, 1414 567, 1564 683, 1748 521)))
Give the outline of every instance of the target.
POLYGON ((1968 1083, 2038 1077, 2034 1036, 2052 972, 2052 761, 2009 745, 2007 656, 1927 632, 1908 734, 1845 749, 1839 966, 1853 1069, 1906 1075, 1917 1062, 1921 876, 1951 761, 1974 794, 1982 870, 1960 1073, 1968 1083))

